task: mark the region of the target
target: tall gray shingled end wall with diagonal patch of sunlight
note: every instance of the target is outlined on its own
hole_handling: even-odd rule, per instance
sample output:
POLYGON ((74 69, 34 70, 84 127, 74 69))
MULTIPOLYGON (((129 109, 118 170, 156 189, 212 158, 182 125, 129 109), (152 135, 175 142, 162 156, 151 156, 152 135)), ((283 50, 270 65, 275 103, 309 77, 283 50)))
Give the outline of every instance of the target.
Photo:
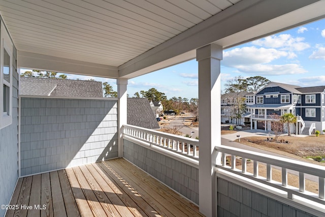
POLYGON ((21 175, 118 157, 117 101, 21 98, 21 175))

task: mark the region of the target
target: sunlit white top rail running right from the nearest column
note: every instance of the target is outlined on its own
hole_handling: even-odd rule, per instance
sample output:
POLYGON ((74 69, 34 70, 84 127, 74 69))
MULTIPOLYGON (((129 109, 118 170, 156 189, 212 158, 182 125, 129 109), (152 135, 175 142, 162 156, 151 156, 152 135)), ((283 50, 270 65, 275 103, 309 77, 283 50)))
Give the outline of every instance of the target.
POLYGON ((217 151, 233 154, 235 156, 240 156, 242 158, 251 159, 257 162, 262 162, 262 163, 279 166, 286 169, 295 170, 295 171, 325 178, 325 167, 320 165, 310 164, 307 162, 297 161, 288 158, 271 156, 269 154, 242 150, 239 148, 233 148, 233 147, 228 147, 223 145, 216 146, 215 148, 217 151))

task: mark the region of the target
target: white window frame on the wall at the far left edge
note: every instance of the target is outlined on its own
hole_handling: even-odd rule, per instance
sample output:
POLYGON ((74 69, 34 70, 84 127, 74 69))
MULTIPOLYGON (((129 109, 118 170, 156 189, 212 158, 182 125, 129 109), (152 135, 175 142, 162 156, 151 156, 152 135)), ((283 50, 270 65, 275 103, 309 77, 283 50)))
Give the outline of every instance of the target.
POLYGON ((12 124, 13 43, 3 22, 0 25, 0 129, 12 124), (4 79, 4 49, 10 56, 9 82, 4 79), (4 85, 9 87, 9 111, 4 112, 4 85), (9 113, 9 114, 8 114, 9 113))

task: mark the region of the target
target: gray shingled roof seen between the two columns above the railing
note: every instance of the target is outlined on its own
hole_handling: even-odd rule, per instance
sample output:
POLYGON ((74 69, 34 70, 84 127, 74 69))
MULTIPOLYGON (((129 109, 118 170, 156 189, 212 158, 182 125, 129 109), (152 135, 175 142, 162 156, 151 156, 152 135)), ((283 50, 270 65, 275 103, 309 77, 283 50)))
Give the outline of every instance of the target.
POLYGON ((127 98, 127 124, 147 129, 159 129, 148 99, 127 98))

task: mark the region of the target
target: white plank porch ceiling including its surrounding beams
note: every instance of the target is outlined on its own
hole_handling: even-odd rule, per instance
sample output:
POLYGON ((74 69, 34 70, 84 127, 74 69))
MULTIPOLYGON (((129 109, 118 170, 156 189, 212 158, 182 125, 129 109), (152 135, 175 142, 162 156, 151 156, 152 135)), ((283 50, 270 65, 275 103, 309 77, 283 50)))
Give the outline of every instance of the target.
POLYGON ((129 78, 193 58, 196 48, 215 41, 232 46, 316 19, 321 12, 234 38, 314 2, 0 0, 0 11, 20 67, 129 78))

